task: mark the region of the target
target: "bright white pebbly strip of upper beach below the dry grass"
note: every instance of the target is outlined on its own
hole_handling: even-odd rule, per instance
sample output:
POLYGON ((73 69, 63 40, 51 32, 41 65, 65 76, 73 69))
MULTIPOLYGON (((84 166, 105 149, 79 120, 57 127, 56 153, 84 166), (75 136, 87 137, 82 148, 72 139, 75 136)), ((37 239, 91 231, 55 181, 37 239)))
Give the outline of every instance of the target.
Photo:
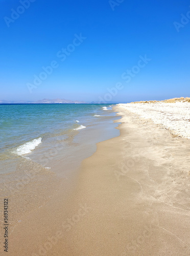
POLYGON ((126 103, 118 104, 141 118, 162 124, 173 134, 190 139, 190 103, 126 103))

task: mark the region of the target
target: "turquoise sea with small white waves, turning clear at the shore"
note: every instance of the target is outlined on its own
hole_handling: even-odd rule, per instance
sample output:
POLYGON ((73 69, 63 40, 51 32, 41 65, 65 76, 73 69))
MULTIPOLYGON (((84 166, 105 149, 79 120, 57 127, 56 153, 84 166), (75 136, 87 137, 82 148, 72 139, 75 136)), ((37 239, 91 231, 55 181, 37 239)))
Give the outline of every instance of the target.
POLYGON ((119 135, 110 104, 1 104, 0 117, 0 174, 35 162, 66 175, 119 135))

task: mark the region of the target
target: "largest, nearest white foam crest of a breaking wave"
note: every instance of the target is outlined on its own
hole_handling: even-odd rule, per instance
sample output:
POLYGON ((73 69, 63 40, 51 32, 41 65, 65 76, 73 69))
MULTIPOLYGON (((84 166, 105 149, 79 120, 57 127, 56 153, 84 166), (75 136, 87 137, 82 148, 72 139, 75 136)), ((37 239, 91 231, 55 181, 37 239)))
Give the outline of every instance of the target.
POLYGON ((41 137, 39 137, 38 139, 31 140, 31 141, 17 147, 13 153, 18 156, 29 154, 32 152, 32 150, 35 150, 35 148, 41 143, 41 140, 42 140, 41 137))

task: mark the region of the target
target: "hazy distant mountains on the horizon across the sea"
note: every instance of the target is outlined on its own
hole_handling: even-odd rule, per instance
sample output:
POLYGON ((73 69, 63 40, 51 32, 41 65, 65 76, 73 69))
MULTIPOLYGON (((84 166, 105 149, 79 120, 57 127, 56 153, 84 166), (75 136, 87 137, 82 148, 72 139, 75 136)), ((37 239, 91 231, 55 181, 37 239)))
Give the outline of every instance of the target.
POLYGON ((37 101, 25 101, 25 100, 0 100, 0 104, 71 104, 71 103, 87 103, 85 101, 78 101, 78 100, 67 100, 67 99, 41 99, 37 101))

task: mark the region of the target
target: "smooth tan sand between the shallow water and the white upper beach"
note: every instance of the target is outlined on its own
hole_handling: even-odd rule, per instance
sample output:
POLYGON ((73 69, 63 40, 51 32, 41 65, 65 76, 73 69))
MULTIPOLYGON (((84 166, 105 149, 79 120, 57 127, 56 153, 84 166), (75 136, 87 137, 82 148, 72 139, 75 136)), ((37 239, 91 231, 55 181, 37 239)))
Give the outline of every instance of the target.
POLYGON ((5 255, 190 255, 189 139, 114 108, 121 135, 97 144, 66 199, 63 181, 46 186, 51 199, 23 216, 5 255))

